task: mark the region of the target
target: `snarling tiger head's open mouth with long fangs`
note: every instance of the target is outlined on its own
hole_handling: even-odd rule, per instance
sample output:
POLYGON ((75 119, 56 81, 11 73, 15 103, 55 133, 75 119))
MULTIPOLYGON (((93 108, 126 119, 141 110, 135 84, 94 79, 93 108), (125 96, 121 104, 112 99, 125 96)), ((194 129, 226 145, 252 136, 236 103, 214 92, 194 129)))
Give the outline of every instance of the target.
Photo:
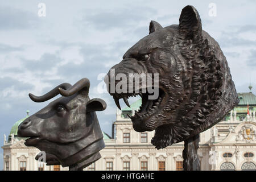
POLYGON ((135 124, 135 130, 136 131, 152 131, 155 129, 156 126, 152 123, 151 126, 143 126, 147 121, 149 121, 152 117, 156 116, 160 110, 163 109, 163 106, 165 105, 166 102, 166 97, 167 94, 164 92, 163 89, 158 88, 159 94, 158 97, 155 100, 149 99, 149 96, 152 94, 150 93, 142 93, 141 89, 139 90, 139 93, 121 93, 121 94, 112 94, 115 104, 117 107, 121 110, 121 107, 119 105, 119 99, 122 98, 123 101, 127 106, 130 107, 130 104, 128 102, 129 97, 136 97, 136 96, 141 96, 142 98, 142 105, 139 107, 139 110, 135 110, 134 115, 127 114, 127 116, 133 121, 135 124), (136 127, 138 123, 141 123, 140 127, 136 127))

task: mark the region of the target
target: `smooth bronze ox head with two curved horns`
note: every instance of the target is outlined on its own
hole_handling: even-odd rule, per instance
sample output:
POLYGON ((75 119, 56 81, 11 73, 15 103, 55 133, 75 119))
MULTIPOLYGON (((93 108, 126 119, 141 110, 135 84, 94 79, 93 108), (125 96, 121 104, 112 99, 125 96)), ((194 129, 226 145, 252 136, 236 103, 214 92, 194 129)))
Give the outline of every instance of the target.
POLYGON ((105 110, 106 103, 100 98, 90 100, 89 87, 88 78, 82 78, 73 86, 60 84, 43 96, 29 94, 35 102, 47 101, 58 94, 63 96, 18 127, 18 136, 28 137, 26 146, 46 152, 48 165, 61 164, 77 170, 101 158, 98 151, 105 144, 95 111, 105 110))

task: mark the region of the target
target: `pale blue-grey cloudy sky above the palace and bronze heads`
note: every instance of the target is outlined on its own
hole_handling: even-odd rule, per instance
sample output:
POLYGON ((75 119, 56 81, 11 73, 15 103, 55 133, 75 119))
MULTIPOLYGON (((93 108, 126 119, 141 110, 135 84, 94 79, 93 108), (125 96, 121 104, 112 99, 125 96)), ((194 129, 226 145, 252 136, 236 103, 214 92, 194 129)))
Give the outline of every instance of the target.
MULTIPOLYGON (((98 112, 102 130, 111 134, 117 108, 112 97, 99 93, 102 75, 148 34, 150 20, 163 27, 179 23, 181 9, 193 5, 203 29, 220 44, 237 92, 256 92, 256 2, 247 1, 14 1, 0 0, 0 143, 11 126, 48 102, 35 103, 62 82, 89 78, 90 98, 103 98, 98 112), (39 3, 46 16, 39 16, 39 3), (216 16, 212 5, 216 5, 216 16), (209 13, 210 11, 210 13, 209 13)), ((52 100, 51 100, 52 101, 52 100)), ((125 107, 121 101, 121 107, 125 107)), ((130 101, 132 102, 132 101, 130 101)), ((3 150, 0 150, 2 169, 3 150)))

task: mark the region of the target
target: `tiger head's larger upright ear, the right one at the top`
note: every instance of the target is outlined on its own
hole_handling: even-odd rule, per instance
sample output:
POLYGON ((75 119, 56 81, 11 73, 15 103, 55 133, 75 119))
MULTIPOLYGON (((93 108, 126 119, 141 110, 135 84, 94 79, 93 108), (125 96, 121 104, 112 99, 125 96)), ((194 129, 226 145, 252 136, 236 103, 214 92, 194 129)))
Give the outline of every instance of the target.
POLYGON ((184 39, 198 39, 202 36, 201 18, 195 7, 186 6, 180 14, 179 33, 184 39))

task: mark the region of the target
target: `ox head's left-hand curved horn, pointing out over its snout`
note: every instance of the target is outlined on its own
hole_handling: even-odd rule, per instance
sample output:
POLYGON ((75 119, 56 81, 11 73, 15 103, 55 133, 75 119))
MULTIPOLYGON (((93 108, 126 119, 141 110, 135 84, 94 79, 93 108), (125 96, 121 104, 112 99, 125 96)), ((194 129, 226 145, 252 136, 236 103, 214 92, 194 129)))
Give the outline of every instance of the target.
POLYGON ((34 102, 44 102, 44 101, 48 101, 51 98, 57 96, 57 94, 60 93, 59 88, 68 89, 71 86, 72 86, 71 84, 64 83, 64 84, 60 84, 60 85, 56 86, 54 89, 52 89, 48 93, 44 94, 43 96, 34 96, 31 93, 28 94, 28 96, 30 96, 31 100, 34 101, 34 102))

